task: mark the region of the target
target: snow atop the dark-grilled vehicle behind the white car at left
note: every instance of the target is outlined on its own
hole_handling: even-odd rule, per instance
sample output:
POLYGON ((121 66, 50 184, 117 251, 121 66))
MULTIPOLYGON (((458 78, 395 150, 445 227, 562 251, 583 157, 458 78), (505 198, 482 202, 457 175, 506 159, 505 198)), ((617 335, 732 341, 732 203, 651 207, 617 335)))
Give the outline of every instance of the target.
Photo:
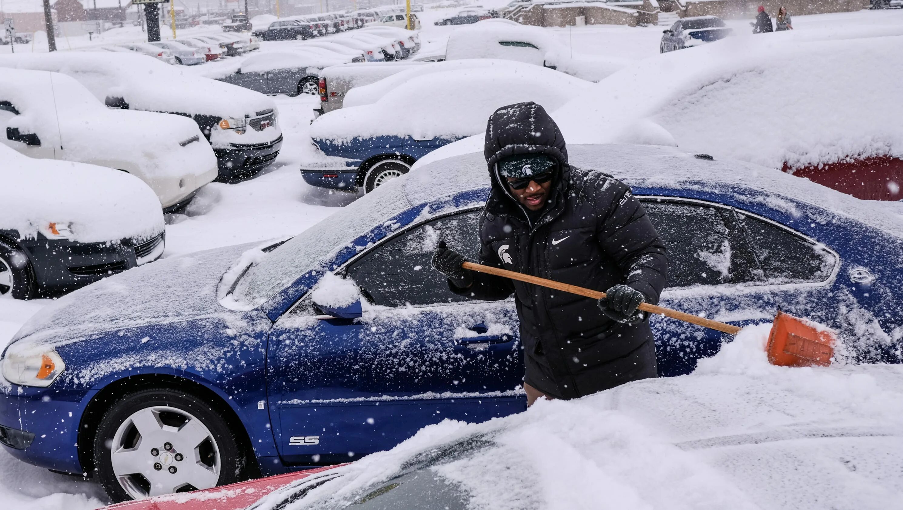
POLYGON ((53 70, 84 79, 100 101, 107 96, 123 97, 139 110, 243 117, 275 108, 273 99, 259 92, 191 76, 146 55, 92 51, 16 53, 0 55, 0 67, 53 70), (100 77, 92 79, 94 73, 100 77))

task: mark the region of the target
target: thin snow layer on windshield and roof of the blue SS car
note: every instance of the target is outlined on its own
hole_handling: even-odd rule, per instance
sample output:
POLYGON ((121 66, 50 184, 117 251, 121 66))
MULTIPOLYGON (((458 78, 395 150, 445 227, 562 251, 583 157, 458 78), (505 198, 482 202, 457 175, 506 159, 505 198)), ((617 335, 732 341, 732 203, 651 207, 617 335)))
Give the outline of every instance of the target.
MULTIPOLYGON (((670 188, 676 195, 685 189, 732 193, 737 187, 747 187, 760 193, 742 195, 741 201, 764 202, 768 207, 795 216, 803 214, 795 201, 812 204, 903 237, 903 216, 898 204, 855 199, 815 182, 748 162, 703 161, 674 147, 636 144, 568 145, 568 157, 575 166, 608 172, 634 187, 670 188)), ((405 177, 381 186, 378 193, 358 199, 283 246, 262 254, 237 283, 234 292, 237 308, 254 307, 269 300, 305 272, 329 263, 358 236, 405 209, 456 192, 488 187, 489 171, 482 152, 414 166, 405 177)))

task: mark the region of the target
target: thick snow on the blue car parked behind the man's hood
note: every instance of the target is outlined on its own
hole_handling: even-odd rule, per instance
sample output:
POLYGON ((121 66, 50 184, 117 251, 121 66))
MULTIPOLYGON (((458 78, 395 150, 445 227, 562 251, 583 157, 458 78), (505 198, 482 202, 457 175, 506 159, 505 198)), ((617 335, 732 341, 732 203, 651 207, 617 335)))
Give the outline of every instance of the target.
MULTIPOLYGON (((486 120, 498 107, 535 101, 554 108, 591 86, 554 70, 507 60, 443 64, 417 67, 387 78, 399 85, 372 104, 353 106, 352 89, 345 107, 313 122, 312 137, 343 143, 379 135, 411 136, 415 140, 460 138, 485 130, 486 120), (419 74, 420 70, 429 71, 419 74), (442 100, 437 101, 437 97, 442 100)), ((382 81, 367 88, 378 89, 382 81)))

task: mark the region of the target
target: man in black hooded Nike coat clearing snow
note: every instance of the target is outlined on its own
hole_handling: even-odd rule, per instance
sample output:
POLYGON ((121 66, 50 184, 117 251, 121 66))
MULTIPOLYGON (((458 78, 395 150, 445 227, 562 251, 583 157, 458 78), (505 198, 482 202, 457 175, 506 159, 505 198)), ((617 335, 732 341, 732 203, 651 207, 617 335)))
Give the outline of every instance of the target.
POLYGON ((527 403, 571 399, 655 377, 642 302, 665 287, 666 246, 623 182, 568 163, 558 126, 535 103, 489 117, 491 192, 479 224, 479 263, 600 291, 600 301, 461 267, 440 242, 433 267, 452 292, 479 300, 512 293, 524 346, 527 403))

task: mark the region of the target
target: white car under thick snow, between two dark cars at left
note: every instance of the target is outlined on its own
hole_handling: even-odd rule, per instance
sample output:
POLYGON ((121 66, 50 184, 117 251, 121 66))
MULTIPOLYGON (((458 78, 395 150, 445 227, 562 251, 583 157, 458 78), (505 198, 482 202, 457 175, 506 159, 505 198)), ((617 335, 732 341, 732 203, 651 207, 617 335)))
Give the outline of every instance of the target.
POLYGON ((0 73, 0 133, 0 142, 26 156, 131 173, 166 210, 180 209, 217 177, 216 157, 191 119, 107 109, 60 73, 0 73))

